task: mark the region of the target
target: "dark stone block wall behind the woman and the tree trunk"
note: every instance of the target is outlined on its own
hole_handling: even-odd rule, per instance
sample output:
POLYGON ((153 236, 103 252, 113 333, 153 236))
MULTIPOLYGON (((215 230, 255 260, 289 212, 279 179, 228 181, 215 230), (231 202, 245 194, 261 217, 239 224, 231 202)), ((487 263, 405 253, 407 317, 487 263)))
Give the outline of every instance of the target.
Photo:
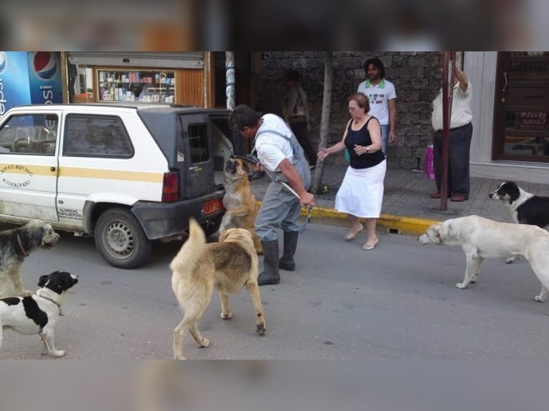
MULTIPOLYGON (((439 52, 334 51, 329 145, 340 140, 349 120, 347 98, 364 81, 364 61, 377 57, 385 65, 386 78, 397 90, 397 142, 388 147, 390 168, 423 168, 425 146, 432 135, 432 101, 441 87, 442 55, 439 52)), ((324 88, 325 53, 313 51, 265 51, 257 73, 256 108, 281 114, 285 71, 301 74, 313 117, 310 135, 318 147, 324 88)), ((328 162, 344 162, 343 154, 330 156, 328 162)))

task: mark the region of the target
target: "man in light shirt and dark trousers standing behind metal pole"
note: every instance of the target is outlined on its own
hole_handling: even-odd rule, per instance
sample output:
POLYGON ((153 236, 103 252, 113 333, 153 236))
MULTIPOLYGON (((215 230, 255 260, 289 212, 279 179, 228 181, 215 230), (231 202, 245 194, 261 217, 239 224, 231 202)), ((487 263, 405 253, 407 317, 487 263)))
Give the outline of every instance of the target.
MULTIPOLYGON (((471 84, 463 71, 456 67, 452 91, 452 115, 450 116, 448 145, 448 197, 450 201, 469 199, 469 149, 473 136, 471 120, 471 84)), ((432 199, 441 198, 443 115, 442 88, 433 101, 431 123, 433 136, 433 164, 436 192, 432 199)))

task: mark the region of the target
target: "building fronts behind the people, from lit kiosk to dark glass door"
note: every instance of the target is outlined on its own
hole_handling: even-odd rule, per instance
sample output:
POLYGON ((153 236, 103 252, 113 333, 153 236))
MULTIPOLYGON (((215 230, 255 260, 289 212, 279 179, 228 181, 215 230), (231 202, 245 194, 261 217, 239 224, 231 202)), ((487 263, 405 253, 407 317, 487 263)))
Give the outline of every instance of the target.
MULTIPOLYGON (((464 51, 472 86, 471 175, 546 182, 549 178, 549 52, 464 51)), ((432 101, 441 87, 440 52, 334 51, 329 145, 349 119, 347 99, 364 81, 364 61, 384 62, 395 84, 397 142, 388 166, 423 169, 432 139, 432 101)), ((64 99, 69 102, 146 101, 225 107, 224 52, 65 52, 64 99)), ((235 103, 281 114, 285 71, 301 74, 318 145, 325 53, 235 52, 235 103)), ((343 155, 329 162, 344 162, 343 155)))

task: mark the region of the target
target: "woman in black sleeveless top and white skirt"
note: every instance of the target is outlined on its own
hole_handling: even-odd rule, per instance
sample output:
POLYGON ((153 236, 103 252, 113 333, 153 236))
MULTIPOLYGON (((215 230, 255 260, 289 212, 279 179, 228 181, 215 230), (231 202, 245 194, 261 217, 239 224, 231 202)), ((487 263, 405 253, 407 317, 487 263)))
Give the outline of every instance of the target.
POLYGON ((364 219, 367 238, 362 249, 370 251, 379 241, 375 223, 382 211, 387 163, 382 151, 381 126, 368 114, 368 97, 357 92, 349 97, 348 103, 351 120, 345 127, 343 138, 327 149, 318 149, 318 160, 323 161, 328 155, 345 148, 349 150, 351 160, 336 195, 336 210, 347 213, 351 221, 351 228, 345 234, 346 241, 364 231, 360 223, 360 219, 364 219))

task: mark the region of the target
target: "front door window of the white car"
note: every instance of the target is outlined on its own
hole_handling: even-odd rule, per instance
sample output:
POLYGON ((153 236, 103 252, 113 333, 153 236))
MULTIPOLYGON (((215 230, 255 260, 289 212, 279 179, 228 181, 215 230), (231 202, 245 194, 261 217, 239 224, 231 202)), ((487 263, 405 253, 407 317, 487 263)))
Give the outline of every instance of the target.
POLYGON ((57 127, 56 114, 11 116, 0 129, 0 154, 54 155, 57 127))

